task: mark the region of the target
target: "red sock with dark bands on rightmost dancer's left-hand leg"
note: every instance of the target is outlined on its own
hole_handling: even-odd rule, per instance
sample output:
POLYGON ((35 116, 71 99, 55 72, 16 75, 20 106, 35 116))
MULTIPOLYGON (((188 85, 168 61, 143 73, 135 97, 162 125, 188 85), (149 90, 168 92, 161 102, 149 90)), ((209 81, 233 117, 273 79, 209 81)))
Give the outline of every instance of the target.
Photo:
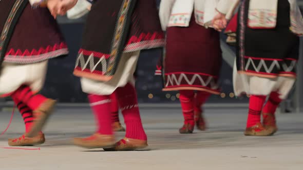
POLYGON ((266 96, 251 95, 247 119, 247 128, 250 128, 251 126, 254 126, 261 121, 261 110, 265 100, 266 96))

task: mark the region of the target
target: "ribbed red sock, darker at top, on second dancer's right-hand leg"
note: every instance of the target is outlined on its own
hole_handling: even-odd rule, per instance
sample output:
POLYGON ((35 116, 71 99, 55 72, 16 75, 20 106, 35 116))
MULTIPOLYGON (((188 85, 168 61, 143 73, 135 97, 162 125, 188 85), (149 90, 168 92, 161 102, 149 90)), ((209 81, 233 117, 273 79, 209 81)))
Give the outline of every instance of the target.
POLYGON ((118 88, 116 92, 126 125, 125 137, 147 140, 141 122, 136 89, 132 84, 127 83, 125 87, 118 88))

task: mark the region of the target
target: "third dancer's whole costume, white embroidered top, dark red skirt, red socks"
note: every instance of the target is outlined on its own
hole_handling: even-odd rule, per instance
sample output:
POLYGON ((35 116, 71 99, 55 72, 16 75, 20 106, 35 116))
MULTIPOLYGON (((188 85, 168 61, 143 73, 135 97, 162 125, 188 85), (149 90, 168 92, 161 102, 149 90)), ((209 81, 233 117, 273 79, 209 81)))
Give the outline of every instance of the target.
POLYGON ((160 4, 161 25, 167 35, 164 68, 157 68, 163 68, 163 91, 180 91, 184 116, 180 133, 192 133, 195 123, 205 130, 201 106, 211 94, 219 94, 220 37, 209 28, 217 2, 166 0, 160 4))

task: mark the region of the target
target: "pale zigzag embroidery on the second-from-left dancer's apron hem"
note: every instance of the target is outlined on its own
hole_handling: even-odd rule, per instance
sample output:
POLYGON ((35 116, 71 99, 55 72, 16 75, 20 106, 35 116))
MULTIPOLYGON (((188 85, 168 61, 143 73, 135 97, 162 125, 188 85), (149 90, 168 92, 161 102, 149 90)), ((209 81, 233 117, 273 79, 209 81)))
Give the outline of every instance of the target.
POLYGON ((95 64, 93 53, 91 53, 89 55, 87 61, 85 62, 84 55, 83 55, 83 52, 82 52, 82 53, 79 54, 79 56, 77 58, 75 68, 77 68, 79 66, 79 62, 80 62, 80 67, 81 67, 82 71, 85 70, 87 68, 87 65, 89 64, 90 72, 93 72, 94 70, 96 70, 98 65, 101 63, 102 64, 102 73, 106 73, 107 61, 106 61, 105 55, 102 56, 101 58, 99 58, 99 61, 95 64))

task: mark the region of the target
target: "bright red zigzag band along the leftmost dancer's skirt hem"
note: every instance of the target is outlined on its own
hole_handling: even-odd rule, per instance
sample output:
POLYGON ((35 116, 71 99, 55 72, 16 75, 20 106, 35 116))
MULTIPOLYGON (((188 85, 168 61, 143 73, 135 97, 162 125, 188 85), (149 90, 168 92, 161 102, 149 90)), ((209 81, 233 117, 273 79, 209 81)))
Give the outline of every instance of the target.
POLYGON ((39 50, 33 49, 31 52, 28 50, 25 50, 22 52, 21 50, 17 50, 16 52, 14 49, 10 49, 6 55, 9 56, 35 56, 35 55, 40 55, 40 54, 45 54, 49 52, 53 52, 56 50, 61 50, 67 48, 67 45, 64 42, 61 42, 60 44, 55 44, 54 46, 47 46, 46 48, 41 47, 39 50))

